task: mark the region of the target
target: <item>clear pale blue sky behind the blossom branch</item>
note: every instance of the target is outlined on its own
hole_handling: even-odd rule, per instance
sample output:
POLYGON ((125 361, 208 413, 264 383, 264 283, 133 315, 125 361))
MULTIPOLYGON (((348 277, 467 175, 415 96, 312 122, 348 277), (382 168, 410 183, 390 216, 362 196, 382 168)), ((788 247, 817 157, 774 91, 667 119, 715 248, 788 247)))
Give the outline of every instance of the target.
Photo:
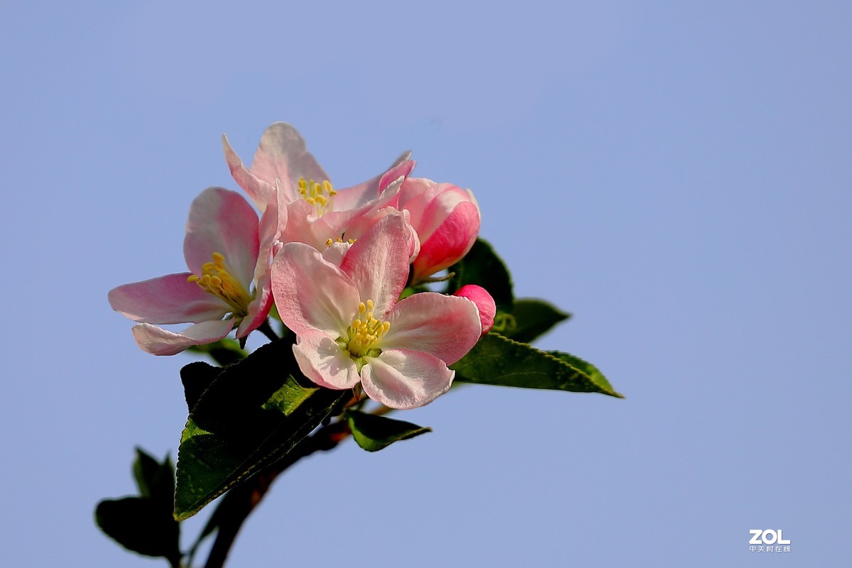
MULTIPOLYGON (((0 559, 101 535, 175 456, 187 355, 107 290, 184 268, 204 187, 296 125, 336 186, 412 149, 471 188, 538 345, 627 399, 466 387, 280 478, 231 566, 849 562, 852 8, 835 2, 0 4, 0 559), (594 4, 594 7, 590 7, 594 4), (792 552, 749 551, 781 529, 792 552)), ((187 540, 206 518, 186 527, 187 540)))

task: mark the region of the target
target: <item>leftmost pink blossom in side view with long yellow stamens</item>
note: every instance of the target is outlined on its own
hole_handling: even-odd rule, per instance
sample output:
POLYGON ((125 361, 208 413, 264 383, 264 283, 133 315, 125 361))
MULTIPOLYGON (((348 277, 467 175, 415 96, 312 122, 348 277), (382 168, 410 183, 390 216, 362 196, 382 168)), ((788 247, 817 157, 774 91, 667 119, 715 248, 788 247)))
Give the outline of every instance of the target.
POLYGON ((245 337, 272 304, 269 258, 278 222, 273 199, 258 224, 245 198, 210 187, 189 208, 183 254, 187 273, 169 274, 110 290, 112 309, 141 324, 136 342, 147 353, 174 355, 219 341, 234 328, 245 337), (153 324, 192 323, 175 333, 153 324))

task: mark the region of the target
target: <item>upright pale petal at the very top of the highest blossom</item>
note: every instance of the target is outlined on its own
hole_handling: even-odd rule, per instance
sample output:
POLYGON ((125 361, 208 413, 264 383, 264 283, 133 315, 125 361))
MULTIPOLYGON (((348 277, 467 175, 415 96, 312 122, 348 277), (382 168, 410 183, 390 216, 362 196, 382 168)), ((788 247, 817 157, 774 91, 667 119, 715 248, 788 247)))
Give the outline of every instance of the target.
POLYGON ((281 181, 287 201, 298 198, 296 187, 300 177, 323 181, 329 177, 317 164, 299 131, 287 123, 274 123, 261 136, 251 173, 273 184, 281 181))

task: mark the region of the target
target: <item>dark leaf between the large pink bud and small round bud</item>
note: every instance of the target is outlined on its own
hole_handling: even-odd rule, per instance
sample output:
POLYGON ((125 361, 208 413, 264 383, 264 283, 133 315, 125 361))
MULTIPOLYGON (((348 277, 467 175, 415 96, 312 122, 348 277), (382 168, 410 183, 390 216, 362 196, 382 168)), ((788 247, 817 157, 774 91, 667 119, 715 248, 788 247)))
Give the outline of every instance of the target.
POLYGON ((481 238, 477 238, 473 247, 461 261, 452 265, 449 271, 453 273, 447 287, 447 293, 452 294, 465 284, 477 284, 488 290, 494 298, 498 310, 512 310, 512 279, 509 269, 492 246, 481 238))

